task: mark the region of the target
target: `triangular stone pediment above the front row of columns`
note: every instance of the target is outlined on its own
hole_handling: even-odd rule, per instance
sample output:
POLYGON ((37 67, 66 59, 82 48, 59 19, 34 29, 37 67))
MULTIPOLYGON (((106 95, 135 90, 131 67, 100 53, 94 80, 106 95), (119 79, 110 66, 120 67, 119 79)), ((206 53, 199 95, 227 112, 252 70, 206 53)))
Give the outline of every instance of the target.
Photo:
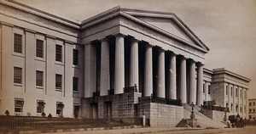
POLYGON ((209 51, 209 48, 175 14, 125 8, 121 10, 125 14, 129 14, 137 20, 142 20, 144 23, 167 32, 181 41, 188 42, 195 47, 201 47, 206 52, 209 51))

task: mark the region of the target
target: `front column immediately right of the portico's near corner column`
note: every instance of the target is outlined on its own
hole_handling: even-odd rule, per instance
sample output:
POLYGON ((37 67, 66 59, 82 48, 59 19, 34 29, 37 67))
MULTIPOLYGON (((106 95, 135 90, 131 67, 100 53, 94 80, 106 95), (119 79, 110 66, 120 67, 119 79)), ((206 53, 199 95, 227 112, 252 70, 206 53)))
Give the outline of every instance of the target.
POLYGON ((139 87, 139 69, 138 69, 138 40, 131 40, 131 62, 130 62, 130 86, 137 85, 139 87))

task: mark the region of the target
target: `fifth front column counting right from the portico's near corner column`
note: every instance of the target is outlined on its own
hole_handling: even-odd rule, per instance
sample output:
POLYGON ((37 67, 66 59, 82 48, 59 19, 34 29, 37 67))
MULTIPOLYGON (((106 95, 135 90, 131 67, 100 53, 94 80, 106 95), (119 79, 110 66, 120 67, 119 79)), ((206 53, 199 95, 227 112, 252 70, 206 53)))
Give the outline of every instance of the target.
POLYGON ((177 99, 177 82, 176 82, 176 54, 172 53, 170 59, 170 80, 166 84, 169 84, 170 92, 168 97, 171 99, 177 99))

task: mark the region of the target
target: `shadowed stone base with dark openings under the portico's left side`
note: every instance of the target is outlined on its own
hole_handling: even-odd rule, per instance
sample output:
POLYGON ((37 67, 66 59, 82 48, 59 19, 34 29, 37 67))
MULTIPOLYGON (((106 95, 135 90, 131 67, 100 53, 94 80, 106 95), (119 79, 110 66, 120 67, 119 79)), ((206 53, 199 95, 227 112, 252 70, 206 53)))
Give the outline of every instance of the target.
POLYGON ((96 98, 82 98, 81 117, 84 118, 137 118, 140 92, 114 94, 96 98))

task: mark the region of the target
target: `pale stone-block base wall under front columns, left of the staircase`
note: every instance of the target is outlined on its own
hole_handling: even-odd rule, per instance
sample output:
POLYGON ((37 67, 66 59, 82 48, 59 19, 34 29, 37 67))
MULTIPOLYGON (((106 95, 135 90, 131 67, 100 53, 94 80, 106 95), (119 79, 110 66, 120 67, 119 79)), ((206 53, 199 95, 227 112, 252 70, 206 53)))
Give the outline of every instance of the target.
POLYGON ((140 103, 139 114, 146 115, 150 126, 177 126, 183 119, 183 107, 164 103, 140 103))

